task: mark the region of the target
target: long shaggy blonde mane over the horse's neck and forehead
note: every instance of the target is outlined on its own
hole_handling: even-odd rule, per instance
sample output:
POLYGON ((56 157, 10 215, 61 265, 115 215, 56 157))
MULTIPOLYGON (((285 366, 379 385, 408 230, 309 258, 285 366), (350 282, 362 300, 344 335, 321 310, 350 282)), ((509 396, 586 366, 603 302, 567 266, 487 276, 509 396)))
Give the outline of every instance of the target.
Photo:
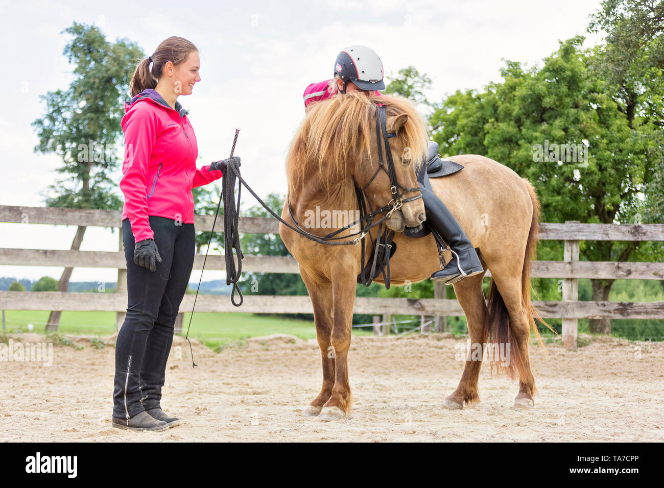
POLYGON ((404 147, 409 148, 415 171, 419 169, 424 163, 428 137, 424 119, 413 104, 401 97, 352 92, 313 104, 297 129, 286 159, 291 195, 299 193, 307 176, 314 172, 322 186, 328 192, 333 191, 343 183, 349 161, 365 151, 371 154, 371 134, 376 131, 376 103, 386 105, 388 120, 408 114, 408 121, 398 137, 402 138, 404 147))

